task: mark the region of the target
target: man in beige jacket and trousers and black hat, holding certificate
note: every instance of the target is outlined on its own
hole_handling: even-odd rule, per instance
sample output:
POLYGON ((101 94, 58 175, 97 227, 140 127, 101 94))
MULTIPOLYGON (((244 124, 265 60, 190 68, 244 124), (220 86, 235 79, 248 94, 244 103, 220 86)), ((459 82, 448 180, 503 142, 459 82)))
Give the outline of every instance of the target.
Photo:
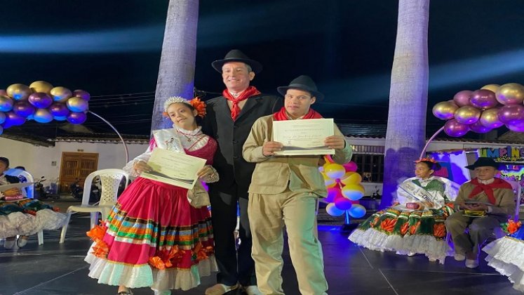
MULTIPOLYGON (((278 87, 284 96, 284 107, 272 115, 258 119, 243 145, 243 157, 257 166, 249 187, 250 225, 253 232, 253 258, 257 282, 263 294, 284 294, 281 270, 283 267, 283 232, 288 232, 291 261, 297 273, 300 294, 326 294, 322 246, 316 237, 316 202, 327 191, 318 164, 321 156, 274 156, 283 148, 273 141, 274 121, 318 119, 321 115, 311 109, 323 94, 314 81, 300 76, 289 86, 278 87)), ((339 164, 351 159, 351 146, 337 126, 335 135, 326 135, 325 146, 335 149, 332 159, 339 164)))

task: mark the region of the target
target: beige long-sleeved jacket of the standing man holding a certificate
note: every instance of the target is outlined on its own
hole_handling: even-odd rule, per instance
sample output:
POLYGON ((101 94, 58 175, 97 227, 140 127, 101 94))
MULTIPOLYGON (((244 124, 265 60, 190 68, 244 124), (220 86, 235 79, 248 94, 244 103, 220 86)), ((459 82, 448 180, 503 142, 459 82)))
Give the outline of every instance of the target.
MULTIPOLYGON (((265 157, 262 155, 264 142, 273 140, 273 115, 257 119, 243 145, 243 157, 247 162, 257 163, 248 192, 264 195, 276 195, 288 188, 292 192, 314 192, 325 197, 324 179, 318 171, 321 156, 281 156, 265 157)), ((335 135, 342 133, 335 125, 335 135)), ((326 136, 327 137, 327 136, 326 136)), ((351 160, 353 151, 346 143, 343 150, 335 150, 332 159, 339 164, 351 160)))

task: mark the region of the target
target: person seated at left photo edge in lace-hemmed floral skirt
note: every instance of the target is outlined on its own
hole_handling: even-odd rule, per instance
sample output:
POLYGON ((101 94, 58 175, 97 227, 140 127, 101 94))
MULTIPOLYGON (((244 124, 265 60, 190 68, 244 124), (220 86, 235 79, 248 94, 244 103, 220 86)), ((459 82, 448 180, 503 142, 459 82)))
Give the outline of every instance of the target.
POLYGON ((9 159, 0 157, 0 239, 6 239, 4 241, 6 249, 12 249, 15 243, 22 248, 27 244, 28 235, 33 235, 40 230, 60 228, 66 216, 55 212, 58 209, 39 200, 24 198, 25 190, 18 188, 2 190, 2 185, 20 183, 18 177, 4 174, 8 168, 9 159), (20 236, 18 240, 17 235, 20 236))

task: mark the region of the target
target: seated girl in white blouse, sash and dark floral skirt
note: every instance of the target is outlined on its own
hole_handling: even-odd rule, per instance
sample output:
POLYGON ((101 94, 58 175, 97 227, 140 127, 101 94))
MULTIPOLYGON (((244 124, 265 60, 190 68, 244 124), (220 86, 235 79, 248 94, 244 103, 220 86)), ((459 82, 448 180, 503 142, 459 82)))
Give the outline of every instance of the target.
POLYGON ((425 254, 430 261, 444 263, 449 251, 444 221, 453 212, 446 203, 457 196, 457 186, 433 176, 441 169, 434 159, 416 163, 416 177, 408 178, 397 189, 398 203, 372 214, 349 240, 372 250, 425 254), (415 197, 421 195, 424 197, 415 197))

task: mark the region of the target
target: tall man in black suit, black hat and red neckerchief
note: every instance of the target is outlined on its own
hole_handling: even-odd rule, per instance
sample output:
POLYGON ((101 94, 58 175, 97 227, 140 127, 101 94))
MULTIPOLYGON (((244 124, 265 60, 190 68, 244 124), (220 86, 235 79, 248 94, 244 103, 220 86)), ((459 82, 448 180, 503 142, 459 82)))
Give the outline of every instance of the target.
POLYGON ((248 220, 248 188, 255 164, 243 159, 242 145, 255 120, 278 110, 282 100, 250 86, 255 74, 262 71, 262 65, 239 50, 229 51, 223 60, 215 60, 211 65, 222 74, 226 89, 222 96, 206 102, 207 115, 202 123, 203 132, 218 142, 213 166, 220 175, 220 181, 209 185, 215 258, 220 273, 218 284, 208 288, 206 294, 224 294, 238 288, 239 284, 248 295, 260 294, 251 258, 248 220), (233 235, 237 203, 241 240, 238 251, 233 235))

